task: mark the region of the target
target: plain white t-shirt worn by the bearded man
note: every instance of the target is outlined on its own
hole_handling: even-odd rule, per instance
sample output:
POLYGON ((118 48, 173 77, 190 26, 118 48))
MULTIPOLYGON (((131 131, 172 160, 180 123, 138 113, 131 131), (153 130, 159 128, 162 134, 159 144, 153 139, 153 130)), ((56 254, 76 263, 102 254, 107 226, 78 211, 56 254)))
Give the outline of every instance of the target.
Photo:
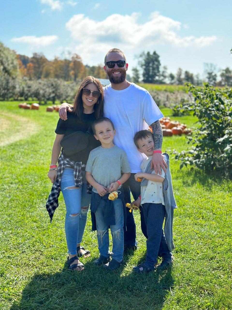
POLYGON ((116 135, 114 144, 127 153, 131 173, 140 172, 140 163, 146 157, 134 144, 137 131, 148 129, 163 114, 152 96, 144 88, 131 83, 121 91, 107 85, 104 90, 104 116, 114 123, 116 135))

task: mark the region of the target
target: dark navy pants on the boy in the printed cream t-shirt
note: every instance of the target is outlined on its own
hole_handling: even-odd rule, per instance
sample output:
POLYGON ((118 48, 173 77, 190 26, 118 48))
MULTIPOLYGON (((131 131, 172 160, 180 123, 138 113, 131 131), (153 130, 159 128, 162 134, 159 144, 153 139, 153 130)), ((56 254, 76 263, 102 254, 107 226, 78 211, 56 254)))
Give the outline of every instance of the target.
POLYGON ((168 249, 163 232, 165 206, 161 203, 144 203, 143 211, 148 234, 145 265, 153 268, 157 263, 158 253, 161 253, 165 260, 172 260, 172 254, 168 249))

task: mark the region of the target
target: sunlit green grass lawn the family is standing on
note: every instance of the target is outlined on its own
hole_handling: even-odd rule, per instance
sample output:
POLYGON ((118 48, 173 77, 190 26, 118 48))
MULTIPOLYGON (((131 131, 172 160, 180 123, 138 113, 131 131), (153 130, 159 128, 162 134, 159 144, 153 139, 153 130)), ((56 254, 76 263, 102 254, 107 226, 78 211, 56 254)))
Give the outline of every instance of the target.
MULTIPOLYGON (((164 272, 136 275, 144 261, 145 237, 134 213, 138 250, 125 266, 107 272, 92 265, 98 256, 91 220, 83 245, 91 256, 85 270, 67 270, 62 194, 53 223, 45 209, 51 188, 47 177, 58 113, 0 103, 0 309, 232 309, 232 182, 171 161, 174 194, 175 257, 164 272)), ((165 116, 170 110, 162 110, 165 116)), ((178 117, 174 118, 177 119, 178 117)), ((188 126, 196 118, 179 117, 188 126)), ((184 136, 164 137, 163 151, 187 148, 184 136)))

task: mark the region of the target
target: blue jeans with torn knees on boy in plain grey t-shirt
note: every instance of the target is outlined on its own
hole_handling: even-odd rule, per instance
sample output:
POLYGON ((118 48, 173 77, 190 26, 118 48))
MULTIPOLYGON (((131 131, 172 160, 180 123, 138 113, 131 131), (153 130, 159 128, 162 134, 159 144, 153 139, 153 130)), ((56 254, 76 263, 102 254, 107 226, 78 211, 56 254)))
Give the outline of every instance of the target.
MULTIPOLYGON (((124 217, 123 205, 121 199, 113 201, 115 213, 115 225, 110 225, 110 231, 113 241, 112 258, 121 262, 123 259, 124 250, 124 217)), ((97 242, 100 255, 105 257, 110 256, 109 252, 109 229, 104 222, 104 200, 101 199, 97 211, 95 212, 96 226, 97 226, 97 242)))

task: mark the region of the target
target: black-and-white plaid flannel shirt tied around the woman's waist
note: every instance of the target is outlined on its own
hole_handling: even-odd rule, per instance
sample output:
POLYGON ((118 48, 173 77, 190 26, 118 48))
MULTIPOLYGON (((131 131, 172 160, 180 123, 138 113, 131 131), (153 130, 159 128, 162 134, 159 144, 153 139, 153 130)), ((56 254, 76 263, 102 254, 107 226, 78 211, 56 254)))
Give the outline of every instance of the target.
MULTIPOLYGON (((75 186, 81 187, 83 184, 83 175, 84 175, 84 171, 82 168, 84 168, 85 166, 86 165, 82 164, 82 162, 74 162, 70 158, 64 157, 63 150, 61 151, 60 157, 58 158, 57 162, 57 177, 52 185, 51 192, 46 202, 46 209, 50 216, 50 222, 52 222, 54 212, 56 208, 58 208, 58 197, 60 195, 60 182, 64 168, 74 169, 73 174, 74 174, 75 186)), ((87 182, 87 193, 91 194, 91 192, 92 192, 92 186, 87 182)))

